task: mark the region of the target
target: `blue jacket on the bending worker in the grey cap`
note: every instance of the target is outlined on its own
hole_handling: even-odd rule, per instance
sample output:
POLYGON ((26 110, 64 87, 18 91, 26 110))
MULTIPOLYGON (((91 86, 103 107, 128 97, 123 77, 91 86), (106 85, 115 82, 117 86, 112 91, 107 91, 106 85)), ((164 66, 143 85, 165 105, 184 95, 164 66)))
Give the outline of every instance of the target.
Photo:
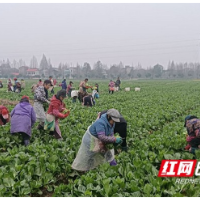
POLYGON ((100 119, 92 124, 89 131, 95 137, 98 137, 98 134, 103 133, 105 133, 105 136, 111 136, 114 134, 114 128, 115 124, 112 127, 107 120, 107 114, 103 114, 100 119))

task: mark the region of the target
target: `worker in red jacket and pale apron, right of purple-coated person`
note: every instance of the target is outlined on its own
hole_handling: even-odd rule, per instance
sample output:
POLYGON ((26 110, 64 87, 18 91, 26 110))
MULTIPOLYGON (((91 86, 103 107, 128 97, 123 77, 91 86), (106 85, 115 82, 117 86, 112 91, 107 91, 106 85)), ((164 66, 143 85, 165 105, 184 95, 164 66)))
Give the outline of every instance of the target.
POLYGON ((51 99, 47 116, 45 120, 45 130, 51 130, 50 134, 54 135, 56 139, 62 139, 59 128, 59 119, 64 119, 69 116, 70 111, 66 109, 63 100, 66 98, 66 90, 60 90, 51 99), (64 114, 63 112, 66 111, 64 114))

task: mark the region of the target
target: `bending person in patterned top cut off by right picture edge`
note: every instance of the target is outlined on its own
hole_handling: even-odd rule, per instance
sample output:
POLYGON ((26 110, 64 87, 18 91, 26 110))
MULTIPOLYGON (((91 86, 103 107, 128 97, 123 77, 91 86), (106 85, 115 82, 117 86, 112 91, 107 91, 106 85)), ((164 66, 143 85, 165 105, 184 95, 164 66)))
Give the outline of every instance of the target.
POLYGON ((195 149, 200 148, 200 119, 198 119, 196 116, 189 115, 185 118, 184 126, 188 132, 186 139, 188 145, 185 147, 185 150, 195 153, 195 149))

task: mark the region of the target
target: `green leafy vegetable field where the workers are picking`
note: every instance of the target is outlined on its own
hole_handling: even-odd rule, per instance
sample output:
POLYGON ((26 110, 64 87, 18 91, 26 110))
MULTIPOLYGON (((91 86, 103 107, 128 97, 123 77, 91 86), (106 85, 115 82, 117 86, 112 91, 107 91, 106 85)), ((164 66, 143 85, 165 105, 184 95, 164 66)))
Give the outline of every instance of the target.
MULTIPOLYGON (((23 95, 33 99, 32 83, 26 81, 21 94, 0 89, 0 104, 11 111, 23 95)), ((100 99, 95 107, 65 100, 71 114, 60 121, 62 141, 40 133, 36 123, 31 144, 24 147, 20 138, 11 137, 10 124, 0 127, 0 197, 200 198, 198 184, 178 185, 175 178, 157 177, 163 159, 194 159, 184 151, 183 125, 186 115, 200 116, 200 82, 122 81, 122 91, 113 95, 108 95, 108 82, 98 83, 100 99), (125 87, 131 91, 125 92, 125 87), (135 87, 141 91, 135 92, 135 87), (85 174, 73 171, 83 134, 99 111, 110 108, 118 109, 128 122, 128 153, 116 155, 116 167, 104 164, 85 174)), ((78 84, 74 81, 76 89, 78 84)))

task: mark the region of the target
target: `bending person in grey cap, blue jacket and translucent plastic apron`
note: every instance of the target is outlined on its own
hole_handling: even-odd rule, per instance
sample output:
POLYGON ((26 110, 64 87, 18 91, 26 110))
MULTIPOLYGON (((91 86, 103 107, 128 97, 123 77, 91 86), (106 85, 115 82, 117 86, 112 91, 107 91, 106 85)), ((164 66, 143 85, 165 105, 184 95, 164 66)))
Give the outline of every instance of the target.
POLYGON ((106 144, 120 144, 122 139, 114 137, 115 122, 120 121, 120 113, 110 109, 100 119, 88 127, 82 139, 81 147, 72 168, 77 171, 88 171, 109 162, 116 166, 114 149, 110 150, 106 144))

